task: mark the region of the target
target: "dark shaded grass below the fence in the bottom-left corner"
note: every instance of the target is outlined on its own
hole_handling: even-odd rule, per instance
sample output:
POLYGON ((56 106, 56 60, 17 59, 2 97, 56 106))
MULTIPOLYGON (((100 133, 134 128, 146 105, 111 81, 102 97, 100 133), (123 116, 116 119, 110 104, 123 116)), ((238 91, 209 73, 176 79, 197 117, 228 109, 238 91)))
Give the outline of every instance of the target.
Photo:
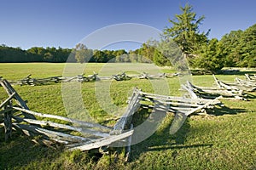
POLYGON ((0 169, 24 167, 33 161, 43 161, 44 158, 54 159, 61 153, 49 147, 34 144, 31 138, 14 132, 12 139, 4 141, 3 127, 0 128, 0 169))

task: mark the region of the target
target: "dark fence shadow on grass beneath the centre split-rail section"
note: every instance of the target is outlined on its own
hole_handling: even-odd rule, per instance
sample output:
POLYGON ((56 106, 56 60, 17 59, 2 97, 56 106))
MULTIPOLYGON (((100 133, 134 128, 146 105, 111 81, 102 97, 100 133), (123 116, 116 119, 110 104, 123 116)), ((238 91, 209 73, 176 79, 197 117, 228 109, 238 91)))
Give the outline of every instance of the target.
MULTIPOLYGON (((143 113, 147 115, 148 111, 143 110, 136 113, 133 120, 142 120, 143 113), (138 118, 138 119, 137 119, 138 118)), ((145 115, 144 115, 145 118, 145 115)), ((212 144, 190 144, 186 145, 187 135, 189 133, 190 125, 187 119, 183 126, 175 134, 170 134, 170 127, 172 124, 173 115, 166 115, 165 119, 161 123, 158 130, 150 136, 148 139, 143 140, 139 144, 131 146, 131 160, 135 161, 144 152, 147 151, 160 151, 160 150, 180 150, 186 148, 196 148, 196 147, 211 147, 212 144)), ((139 122, 136 122, 139 123, 139 122)), ((174 151, 175 152, 175 151, 174 151)))

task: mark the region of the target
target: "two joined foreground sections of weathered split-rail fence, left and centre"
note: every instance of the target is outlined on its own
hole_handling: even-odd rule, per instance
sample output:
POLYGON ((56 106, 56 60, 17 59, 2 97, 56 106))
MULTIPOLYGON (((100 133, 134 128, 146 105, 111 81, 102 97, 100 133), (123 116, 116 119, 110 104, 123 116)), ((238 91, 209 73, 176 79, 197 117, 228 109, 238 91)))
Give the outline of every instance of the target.
POLYGON ((100 150, 103 146, 125 144, 128 158, 134 132, 132 117, 140 108, 154 108, 154 110, 170 111, 175 114, 189 116, 193 113, 205 113, 206 109, 220 104, 218 98, 192 99, 148 94, 134 88, 123 116, 113 127, 107 127, 65 116, 30 111, 26 102, 21 99, 8 81, 0 79, 0 84, 9 94, 9 97, 0 104, 0 114, 3 114, 6 140, 11 138, 12 130, 15 128, 28 136, 35 137, 39 135, 40 138, 33 139, 38 144, 46 144, 50 147, 54 144, 64 144, 67 150, 100 150))

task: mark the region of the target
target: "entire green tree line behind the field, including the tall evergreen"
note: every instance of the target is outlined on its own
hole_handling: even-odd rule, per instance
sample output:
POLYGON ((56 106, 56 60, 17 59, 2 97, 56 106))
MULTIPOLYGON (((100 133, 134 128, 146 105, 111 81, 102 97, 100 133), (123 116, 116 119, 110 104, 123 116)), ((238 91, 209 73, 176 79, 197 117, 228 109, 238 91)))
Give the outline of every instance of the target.
MULTIPOLYGON (((172 38, 188 59, 189 66, 217 72, 223 67, 256 67, 256 24, 245 31, 230 31, 220 40, 208 38, 210 32, 201 32, 199 26, 205 16, 196 17, 191 5, 180 7, 181 14, 168 20, 172 26, 162 32, 162 41, 172 38)), ((87 48, 79 43, 75 48, 33 47, 27 50, 0 46, 0 62, 143 62, 172 65, 159 49, 150 44, 126 52, 87 48)))

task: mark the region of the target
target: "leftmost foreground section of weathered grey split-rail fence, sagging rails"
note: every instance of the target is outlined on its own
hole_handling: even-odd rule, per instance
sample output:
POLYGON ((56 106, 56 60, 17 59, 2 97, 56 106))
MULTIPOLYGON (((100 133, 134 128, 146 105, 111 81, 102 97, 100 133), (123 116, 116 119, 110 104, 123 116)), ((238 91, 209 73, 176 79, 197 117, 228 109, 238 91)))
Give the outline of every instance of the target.
MULTIPOLYGON (((113 127, 30 111, 25 101, 20 98, 8 81, 1 79, 0 84, 9 94, 8 99, 5 99, 0 105, 0 114, 4 115, 6 140, 11 137, 12 128, 14 127, 28 136, 41 135, 42 139, 34 139, 40 144, 65 144, 69 150, 90 150, 95 146, 101 147, 117 142, 120 139, 127 139, 133 132, 131 129, 123 133, 125 127, 130 127, 127 123, 131 122, 127 121, 123 122, 122 127, 119 128, 120 133, 113 134, 111 133, 114 129, 113 127), (14 102, 16 105, 13 105, 14 102), (19 114, 19 112, 22 114, 19 114), (45 118, 49 118, 50 121, 45 120, 45 118), (67 123, 60 123, 60 121, 67 123), (75 133, 79 134, 75 135, 75 133)), ((128 108, 132 108, 132 106, 128 108)))

